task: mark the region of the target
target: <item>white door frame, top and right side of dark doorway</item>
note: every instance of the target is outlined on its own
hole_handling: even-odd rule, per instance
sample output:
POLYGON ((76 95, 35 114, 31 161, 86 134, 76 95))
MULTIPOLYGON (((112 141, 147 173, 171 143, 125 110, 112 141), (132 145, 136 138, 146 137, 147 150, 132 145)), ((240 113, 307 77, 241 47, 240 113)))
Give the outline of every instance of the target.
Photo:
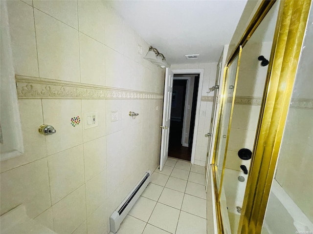
POLYGON ((197 135, 198 135, 198 124, 199 124, 199 116, 200 116, 200 104, 201 104, 201 93, 202 93, 202 84, 203 84, 203 74, 204 69, 176 69, 172 70, 174 75, 175 74, 200 74, 199 77, 199 86, 198 86, 198 95, 197 95, 197 107, 196 107, 196 118, 195 118, 195 126, 194 126, 194 137, 192 141, 192 148, 191 148, 191 164, 195 162, 195 153, 196 153, 196 142, 197 142, 197 135))

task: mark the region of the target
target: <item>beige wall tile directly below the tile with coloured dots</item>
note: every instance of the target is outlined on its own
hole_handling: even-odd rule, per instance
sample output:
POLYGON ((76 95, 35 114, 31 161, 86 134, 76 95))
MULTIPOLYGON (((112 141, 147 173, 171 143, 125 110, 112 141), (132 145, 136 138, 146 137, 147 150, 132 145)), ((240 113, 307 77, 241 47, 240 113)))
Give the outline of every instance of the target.
POLYGON ((83 145, 48 157, 52 204, 85 182, 83 145))

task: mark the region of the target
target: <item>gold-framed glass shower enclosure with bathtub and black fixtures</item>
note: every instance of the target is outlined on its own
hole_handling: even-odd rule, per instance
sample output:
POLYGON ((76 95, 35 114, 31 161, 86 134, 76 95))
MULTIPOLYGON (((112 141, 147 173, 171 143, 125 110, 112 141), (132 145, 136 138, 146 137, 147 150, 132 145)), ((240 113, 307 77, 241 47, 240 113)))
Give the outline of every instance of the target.
POLYGON ((219 233, 313 232, 310 5, 262 1, 226 59, 211 166, 219 233))

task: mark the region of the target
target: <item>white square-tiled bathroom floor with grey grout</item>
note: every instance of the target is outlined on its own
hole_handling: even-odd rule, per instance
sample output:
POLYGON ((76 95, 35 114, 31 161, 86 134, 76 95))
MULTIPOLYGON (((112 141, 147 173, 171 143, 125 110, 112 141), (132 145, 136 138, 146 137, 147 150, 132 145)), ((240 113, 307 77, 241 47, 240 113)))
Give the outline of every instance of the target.
POLYGON ((204 167, 172 158, 165 165, 152 174, 117 234, 206 234, 204 167))

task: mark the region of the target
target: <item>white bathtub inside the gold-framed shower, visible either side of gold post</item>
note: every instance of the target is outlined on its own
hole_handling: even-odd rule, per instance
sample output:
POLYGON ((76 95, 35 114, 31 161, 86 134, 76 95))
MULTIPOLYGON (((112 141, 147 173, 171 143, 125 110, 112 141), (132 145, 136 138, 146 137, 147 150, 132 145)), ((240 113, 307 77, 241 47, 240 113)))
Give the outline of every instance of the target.
MULTIPOLYGON (((243 205, 247 176, 240 171, 224 169, 223 187, 232 234, 236 234, 238 230, 241 214, 238 213, 236 207, 242 207, 243 205), (240 182, 238 176, 244 176, 245 181, 240 182)), ((285 233, 313 234, 313 224, 274 179, 262 234, 285 233)))

